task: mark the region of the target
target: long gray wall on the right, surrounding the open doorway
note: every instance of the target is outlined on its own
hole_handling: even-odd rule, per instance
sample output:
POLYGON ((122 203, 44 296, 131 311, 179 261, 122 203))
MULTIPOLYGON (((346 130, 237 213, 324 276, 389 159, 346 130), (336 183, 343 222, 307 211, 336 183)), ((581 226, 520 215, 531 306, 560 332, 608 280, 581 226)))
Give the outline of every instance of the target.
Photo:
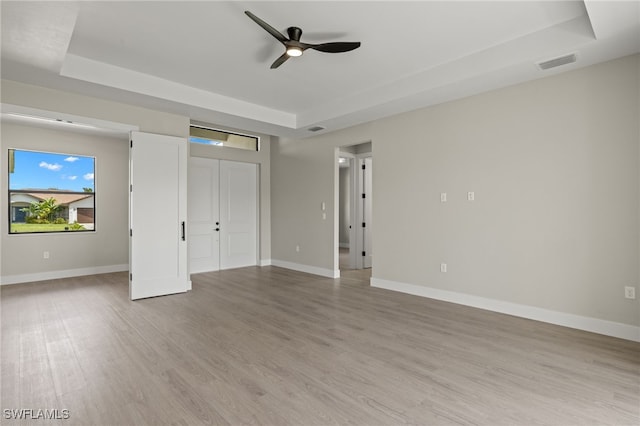
POLYGON ((638 326, 639 58, 279 141, 273 259, 335 268, 317 206, 335 147, 370 140, 374 278, 638 326))

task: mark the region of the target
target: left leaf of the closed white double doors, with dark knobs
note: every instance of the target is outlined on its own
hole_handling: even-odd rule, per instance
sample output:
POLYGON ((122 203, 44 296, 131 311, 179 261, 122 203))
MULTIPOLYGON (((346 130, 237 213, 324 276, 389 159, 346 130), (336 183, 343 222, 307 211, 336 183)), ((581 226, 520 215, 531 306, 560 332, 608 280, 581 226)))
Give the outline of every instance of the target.
POLYGON ((189 161, 189 271, 220 269, 220 161, 189 161))

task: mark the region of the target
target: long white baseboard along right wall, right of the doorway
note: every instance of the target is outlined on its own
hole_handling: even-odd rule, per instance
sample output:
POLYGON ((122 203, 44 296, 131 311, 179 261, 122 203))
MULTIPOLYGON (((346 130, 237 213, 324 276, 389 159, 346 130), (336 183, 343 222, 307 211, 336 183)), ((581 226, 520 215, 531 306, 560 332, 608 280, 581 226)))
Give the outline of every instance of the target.
POLYGON ((372 277, 371 286, 640 342, 640 327, 629 324, 583 317, 421 285, 388 281, 380 278, 372 277))

